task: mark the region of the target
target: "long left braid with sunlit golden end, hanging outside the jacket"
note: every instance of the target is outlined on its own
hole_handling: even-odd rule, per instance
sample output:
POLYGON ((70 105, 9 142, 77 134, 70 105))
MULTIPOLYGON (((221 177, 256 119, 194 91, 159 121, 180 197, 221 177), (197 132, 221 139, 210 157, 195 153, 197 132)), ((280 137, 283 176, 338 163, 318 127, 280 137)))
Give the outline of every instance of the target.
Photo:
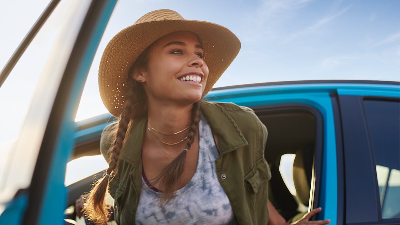
MULTIPOLYGON (((129 88, 128 95, 124 102, 124 110, 120 115, 118 126, 114 130, 114 141, 108 150, 109 154, 109 167, 107 169, 107 175, 100 178, 93 185, 92 190, 89 192, 89 196, 84 204, 84 211, 88 219, 94 224, 105 224, 110 218, 110 206, 104 202, 106 192, 108 192, 108 182, 110 174, 117 171, 118 157, 120 151, 124 145, 126 139, 126 133, 130 129, 131 119, 135 117, 136 111, 139 115, 142 114, 142 110, 136 110, 134 106, 138 106, 134 102, 138 102, 138 99, 134 96, 138 96, 137 92, 140 92, 142 88, 132 88, 135 85, 135 81, 132 77, 128 77, 127 88, 129 88)), ((141 85, 140 85, 141 86, 141 85)))

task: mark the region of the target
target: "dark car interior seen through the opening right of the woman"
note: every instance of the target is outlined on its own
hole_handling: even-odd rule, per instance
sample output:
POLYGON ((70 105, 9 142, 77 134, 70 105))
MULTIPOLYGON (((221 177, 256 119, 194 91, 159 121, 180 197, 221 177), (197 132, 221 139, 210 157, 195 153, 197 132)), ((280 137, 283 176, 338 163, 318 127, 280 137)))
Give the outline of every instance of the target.
POLYGON ((318 196, 314 185, 315 152, 321 151, 320 143, 316 141, 320 138, 316 135, 318 114, 306 106, 273 106, 255 111, 268 129, 265 158, 272 174, 269 199, 286 221, 294 222, 312 208, 318 196), (286 154, 295 155, 293 165, 290 165, 295 195, 289 191, 279 169, 282 156, 286 154))

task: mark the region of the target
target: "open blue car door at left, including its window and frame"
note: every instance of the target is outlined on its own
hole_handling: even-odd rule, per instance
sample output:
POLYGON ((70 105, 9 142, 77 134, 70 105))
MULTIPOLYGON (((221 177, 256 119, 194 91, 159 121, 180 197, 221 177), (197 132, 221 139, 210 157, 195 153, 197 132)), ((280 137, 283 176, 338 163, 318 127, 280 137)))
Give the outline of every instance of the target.
MULTIPOLYGON (((64 175, 74 145, 74 117, 115 4, 116 0, 51 1, 2 70, 0 104, 10 106, 10 98, 27 100, 23 106, 18 101, 12 105, 22 111, 10 123, 9 130, 17 127, 14 141, 0 142, 6 149, 0 175, 0 224, 64 223, 64 175), (54 38, 45 51, 41 47, 48 36, 54 38), (40 66, 34 64, 37 58, 40 66), (28 92, 21 83, 32 76, 36 78, 28 83, 33 87, 28 92)), ((3 111, 6 108, 14 109, 3 111)))

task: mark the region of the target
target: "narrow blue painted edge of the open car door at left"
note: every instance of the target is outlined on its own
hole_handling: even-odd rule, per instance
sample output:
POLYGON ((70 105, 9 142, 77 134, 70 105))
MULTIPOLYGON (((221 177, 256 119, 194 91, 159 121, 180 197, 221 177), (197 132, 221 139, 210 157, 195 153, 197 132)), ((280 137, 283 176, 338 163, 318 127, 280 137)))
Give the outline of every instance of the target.
POLYGON ((60 176, 60 174, 65 174, 66 172, 65 165, 68 163, 76 141, 73 138, 75 125, 72 121, 75 117, 76 106, 78 106, 80 96, 82 95, 94 54, 96 53, 98 44, 106 29, 115 4, 116 1, 108 1, 107 6, 104 7, 102 15, 94 28, 94 34, 91 37, 90 44, 87 46, 83 60, 79 65, 78 74, 76 76, 77 79, 72 86, 71 96, 69 96, 68 102, 66 102, 67 111, 64 113, 63 120, 61 121, 62 129, 56 149, 54 150, 38 224, 47 224, 48 221, 60 221, 59 224, 64 223, 63 212, 66 205, 66 187, 64 185, 65 177, 60 176), (55 196, 57 196, 57 198, 55 198, 55 196))

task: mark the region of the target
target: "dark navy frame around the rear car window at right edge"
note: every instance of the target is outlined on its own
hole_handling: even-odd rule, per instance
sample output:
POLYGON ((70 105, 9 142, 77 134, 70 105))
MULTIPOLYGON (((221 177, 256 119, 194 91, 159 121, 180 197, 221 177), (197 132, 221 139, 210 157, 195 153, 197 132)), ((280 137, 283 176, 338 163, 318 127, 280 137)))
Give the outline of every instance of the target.
POLYGON ((396 95, 400 93, 388 92, 388 96, 382 96, 381 92, 377 93, 378 96, 374 96, 370 91, 365 93, 368 95, 338 96, 346 168, 346 224, 398 224, 397 218, 382 219, 376 163, 363 101, 364 99, 398 99, 400 96, 396 97, 396 95), (359 149, 363 150, 359 151, 359 149), (354 187, 362 188, 354 189, 354 187))

